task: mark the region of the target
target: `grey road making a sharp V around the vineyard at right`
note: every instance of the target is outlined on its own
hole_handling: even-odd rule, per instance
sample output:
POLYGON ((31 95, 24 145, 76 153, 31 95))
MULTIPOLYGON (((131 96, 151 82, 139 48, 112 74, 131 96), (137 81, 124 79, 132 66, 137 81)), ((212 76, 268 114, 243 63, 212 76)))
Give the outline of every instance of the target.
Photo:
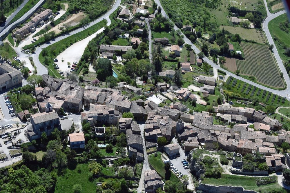
MULTIPOLYGON (((162 10, 161 10, 161 14, 162 14, 164 17, 166 17, 168 20, 170 20, 169 17, 168 17, 168 15, 166 14, 166 12, 164 11, 164 9, 163 9, 163 7, 162 7, 162 5, 161 5, 161 3, 160 3, 160 0, 154 0, 154 1, 155 1, 155 3, 157 4, 157 6, 160 6, 160 7, 161 7, 161 9, 162 9, 162 10)), ((283 12, 283 11, 281 11, 281 12, 283 12)), ((279 16, 280 14, 283 14, 283 13, 281 13, 281 12, 277 12, 277 13, 272 14, 271 16, 267 17, 267 18, 265 19, 265 22, 267 22, 267 25, 268 25, 268 22, 269 22, 271 19, 274 19, 275 17, 279 16)), ((170 21, 171 21, 171 20, 170 20, 170 21)), ((266 26, 267 26, 267 25, 266 25, 266 26)), ((264 26, 264 23, 263 23, 263 26, 264 26)), ((267 26, 267 28, 268 28, 268 26, 267 26)), ((175 29, 175 30, 179 30, 179 28, 177 28, 175 25, 174 25, 174 29, 175 29)), ((184 34, 183 34, 183 35, 184 35, 184 34)), ((272 39, 272 38, 271 38, 271 35, 270 35, 269 33, 268 33, 268 34, 266 33, 266 36, 267 36, 268 39, 272 39)), ((193 47, 193 49, 195 50, 195 53, 196 53, 196 54, 198 54, 198 53, 200 52, 200 50, 198 50, 198 48, 197 48, 193 43, 191 43, 191 41, 190 41, 190 40, 189 40, 185 35, 184 35, 184 42, 187 43, 187 44, 189 44, 189 45, 191 45, 191 46, 193 47)), ((270 44, 271 44, 271 43, 270 43, 270 44)), ((231 73, 231 72, 229 72, 229 71, 227 71, 227 70, 225 70, 225 69, 219 67, 218 65, 216 65, 215 63, 213 63, 213 61, 211 61, 211 60, 208 59, 207 57, 204 57, 203 59, 204 59, 204 61, 206 61, 207 63, 209 63, 213 68, 216 68, 216 69, 218 69, 218 70, 224 71, 224 72, 226 72, 228 75, 232 76, 232 77, 235 78, 235 79, 238 79, 238 80, 244 81, 244 82, 246 82, 246 83, 249 83, 249 84, 251 84, 251 85, 253 85, 253 86, 256 86, 257 88, 260 88, 260 89, 267 90, 267 91, 269 91, 269 92, 272 92, 272 93, 278 94, 278 95, 280 95, 280 96, 282 96, 282 97, 287 97, 287 95, 290 94, 290 79, 289 79, 289 76, 287 76, 287 72, 286 72, 284 66, 281 65, 282 61, 281 61, 281 59, 280 59, 280 56, 278 55, 278 52, 276 51, 277 49, 276 49, 276 47, 275 47, 275 44, 273 44, 273 45, 274 45, 274 48, 273 48, 273 49, 274 49, 274 55, 275 55, 276 59, 278 60, 279 68, 280 68, 281 71, 284 73, 284 79, 285 79, 285 81, 286 81, 286 83, 287 83, 287 88, 286 88, 285 90, 274 90, 274 89, 271 89, 271 88, 267 88, 267 87, 265 87, 265 86, 262 86, 262 85, 260 85, 260 84, 254 83, 254 82, 249 81, 249 80, 247 80, 247 79, 244 79, 244 78, 242 78, 242 77, 240 77, 240 76, 237 76, 236 74, 233 74, 233 73, 231 73), (276 50, 275 50, 275 49, 276 49, 276 50), (276 54, 275 54, 275 53, 276 53, 276 54)), ((287 99, 289 100, 290 98, 287 97, 287 99)))

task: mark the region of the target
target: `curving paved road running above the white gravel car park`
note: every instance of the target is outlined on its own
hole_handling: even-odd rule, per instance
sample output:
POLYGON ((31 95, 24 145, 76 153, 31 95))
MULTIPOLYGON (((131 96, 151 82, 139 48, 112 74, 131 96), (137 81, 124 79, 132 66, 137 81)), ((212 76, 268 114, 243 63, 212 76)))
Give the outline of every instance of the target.
MULTIPOLYGON (((41 50, 43 48, 46 48, 49 45, 52 45, 53 43, 56 43, 56 42, 58 42, 60 40, 63 40, 65 38, 67 38, 67 37, 70 37, 73 34, 77 34, 77 33, 81 32, 81 31, 83 31, 83 30, 85 30, 85 29, 87 29, 87 28, 99 23, 100 21, 102 21, 104 19, 106 19, 108 21, 107 22, 107 26, 109 26, 111 24, 111 20, 110 20, 109 16, 110 16, 110 14, 112 14, 119 7, 120 3, 121 3, 121 0, 116 0, 115 4, 113 5, 113 7, 108 12, 106 12, 106 14, 104 14, 101 17, 99 17, 99 19, 96 19, 95 21, 89 23, 88 25, 84 26, 83 28, 78 28, 78 29, 76 29, 74 31, 71 31, 71 32, 66 33, 66 34, 63 34, 62 36, 59 36, 59 37, 57 37, 57 38, 55 38, 55 39, 53 39, 53 40, 41 45, 40 47, 38 47, 35 50, 35 53, 31 55, 32 58, 33 58, 33 61, 35 62, 35 65, 37 67, 37 74, 38 75, 48 74, 47 68, 44 65, 42 65, 41 62, 39 61, 39 54, 40 54, 40 52, 41 52, 41 50)), ((17 52, 18 56, 21 56, 21 57, 28 56, 28 54, 26 54, 24 52, 21 52, 21 48, 16 48, 16 52, 17 52)))

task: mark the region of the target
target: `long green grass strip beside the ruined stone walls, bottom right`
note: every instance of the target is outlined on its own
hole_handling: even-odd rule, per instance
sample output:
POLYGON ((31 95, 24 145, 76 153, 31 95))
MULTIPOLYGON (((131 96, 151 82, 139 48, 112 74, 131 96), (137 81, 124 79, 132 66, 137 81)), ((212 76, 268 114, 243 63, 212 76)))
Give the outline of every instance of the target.
MULTIPOLYGON (((276 177, 277 178, 277 177, 276 177)), ((221 178, 204 178, 202 183, 212 184, 212 185, 224 185, 224 186, 242 186, 245 190, 254 190, 256 192, 268 192, 270 190, 282 189, 280 185, 276 183, 271 183, 268 185, 258 186, 256 184, 257 178, 247 177, 247 176, 236 176, 229 174, 222 174, 221 178)))

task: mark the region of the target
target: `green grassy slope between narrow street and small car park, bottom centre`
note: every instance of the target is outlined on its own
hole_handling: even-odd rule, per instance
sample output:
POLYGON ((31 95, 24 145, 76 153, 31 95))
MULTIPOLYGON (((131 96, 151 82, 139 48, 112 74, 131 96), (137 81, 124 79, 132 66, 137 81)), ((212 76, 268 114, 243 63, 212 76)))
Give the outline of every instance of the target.
POLYGON ((154 170, 156 170, 156 172, 158 172, 161 175, 163 180, 172 181, 176 185, 177 190, 183 190, 182 182, 180 181, 180 179, 178 179, 177 176, 175 176, 173 172, 169 171, 166 174, 166 171, 164 170, 164 163, 161 158, 161 153, 157 152, 157 155, 158 155, 157 157, 155 157, 154 154, 148 156, 149 163, 152 165, 154 170))

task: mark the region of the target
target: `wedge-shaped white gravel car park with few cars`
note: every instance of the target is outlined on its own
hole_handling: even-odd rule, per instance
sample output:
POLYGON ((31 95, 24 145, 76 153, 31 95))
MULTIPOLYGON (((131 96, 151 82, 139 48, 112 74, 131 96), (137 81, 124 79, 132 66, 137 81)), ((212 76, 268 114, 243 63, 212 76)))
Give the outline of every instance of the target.
POLYGON ((101 28, 94 34, 90 35, 89 37, 74 43, 70 47, 68 47, 64 52, 61 52, 56 58, 58 59, 57 65, 59 66, 59 70, 65 72, 66 70, 70 70, 68 68, 68 62, 72 65, 74 61, 79 61, 81 56, 84 54, 86 46, 88 43, 96 37, 97 34, 101 33, 104 28, 101 28))

